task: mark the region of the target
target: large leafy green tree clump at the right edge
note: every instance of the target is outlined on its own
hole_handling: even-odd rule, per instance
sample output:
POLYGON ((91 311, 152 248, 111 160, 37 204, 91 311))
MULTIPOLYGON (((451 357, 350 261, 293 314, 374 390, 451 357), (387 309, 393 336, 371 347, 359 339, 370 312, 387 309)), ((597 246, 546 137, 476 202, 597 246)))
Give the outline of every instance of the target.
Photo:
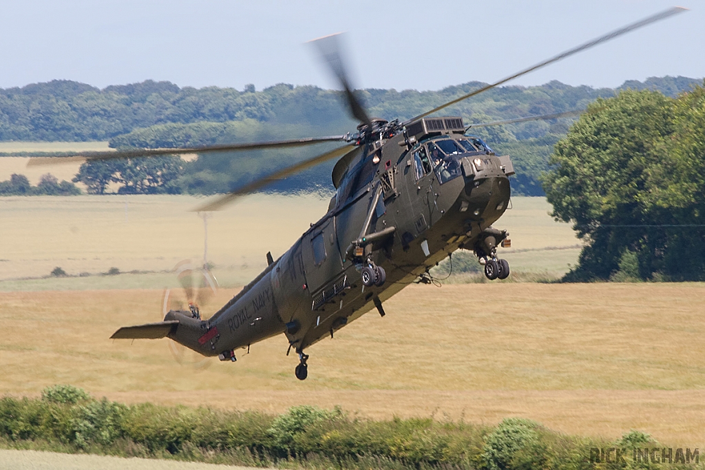
POLYGON ((588 242, 568 279, 705 279, 705 88, 599 99, 551 163, 553 216, 588 242))

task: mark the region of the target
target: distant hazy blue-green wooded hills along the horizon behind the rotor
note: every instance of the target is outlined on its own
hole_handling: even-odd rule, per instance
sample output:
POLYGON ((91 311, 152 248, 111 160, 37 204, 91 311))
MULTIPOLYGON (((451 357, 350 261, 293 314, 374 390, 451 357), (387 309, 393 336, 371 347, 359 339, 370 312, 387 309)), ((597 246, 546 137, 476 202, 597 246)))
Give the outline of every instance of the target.
MULTIPOLYGON (((675 95, 689 89, 689 78, 649 78, 631 88, 659 89, 675 95)), ((360 98, 373 116, 411 118, 485 85, 468 82, 439 91, 364 89, 360 98)), ((467 123, 583 109, 612 89, 571 87, 550 82, 540 87, 500 87, 450 107, 444 113, 467 123)), ((232 88, 180 88, 146 82, 97 89, 67 80, 0 89, 0 141, 111 140, 114 147, 171 147, 244 140, 343 134, 355 128, 338 92, 280 84, 256 91, 232 88)), ((565 135, 570 120, 534 121, 478 128, 498 153, 513 156, 517 194, 541 195, 539 174, 547 168, 551 146, 565 135)), ((324 151, 317 149, 316 151, 324 151)), ((184 192, 223 192, 316 151, 259 152, 200 157, 173 182, 184 192)), ((277 189, 330 187, 333 163, 289 178, 277 189)), ((94 171, 95 172, 95 171, 94 171)))

